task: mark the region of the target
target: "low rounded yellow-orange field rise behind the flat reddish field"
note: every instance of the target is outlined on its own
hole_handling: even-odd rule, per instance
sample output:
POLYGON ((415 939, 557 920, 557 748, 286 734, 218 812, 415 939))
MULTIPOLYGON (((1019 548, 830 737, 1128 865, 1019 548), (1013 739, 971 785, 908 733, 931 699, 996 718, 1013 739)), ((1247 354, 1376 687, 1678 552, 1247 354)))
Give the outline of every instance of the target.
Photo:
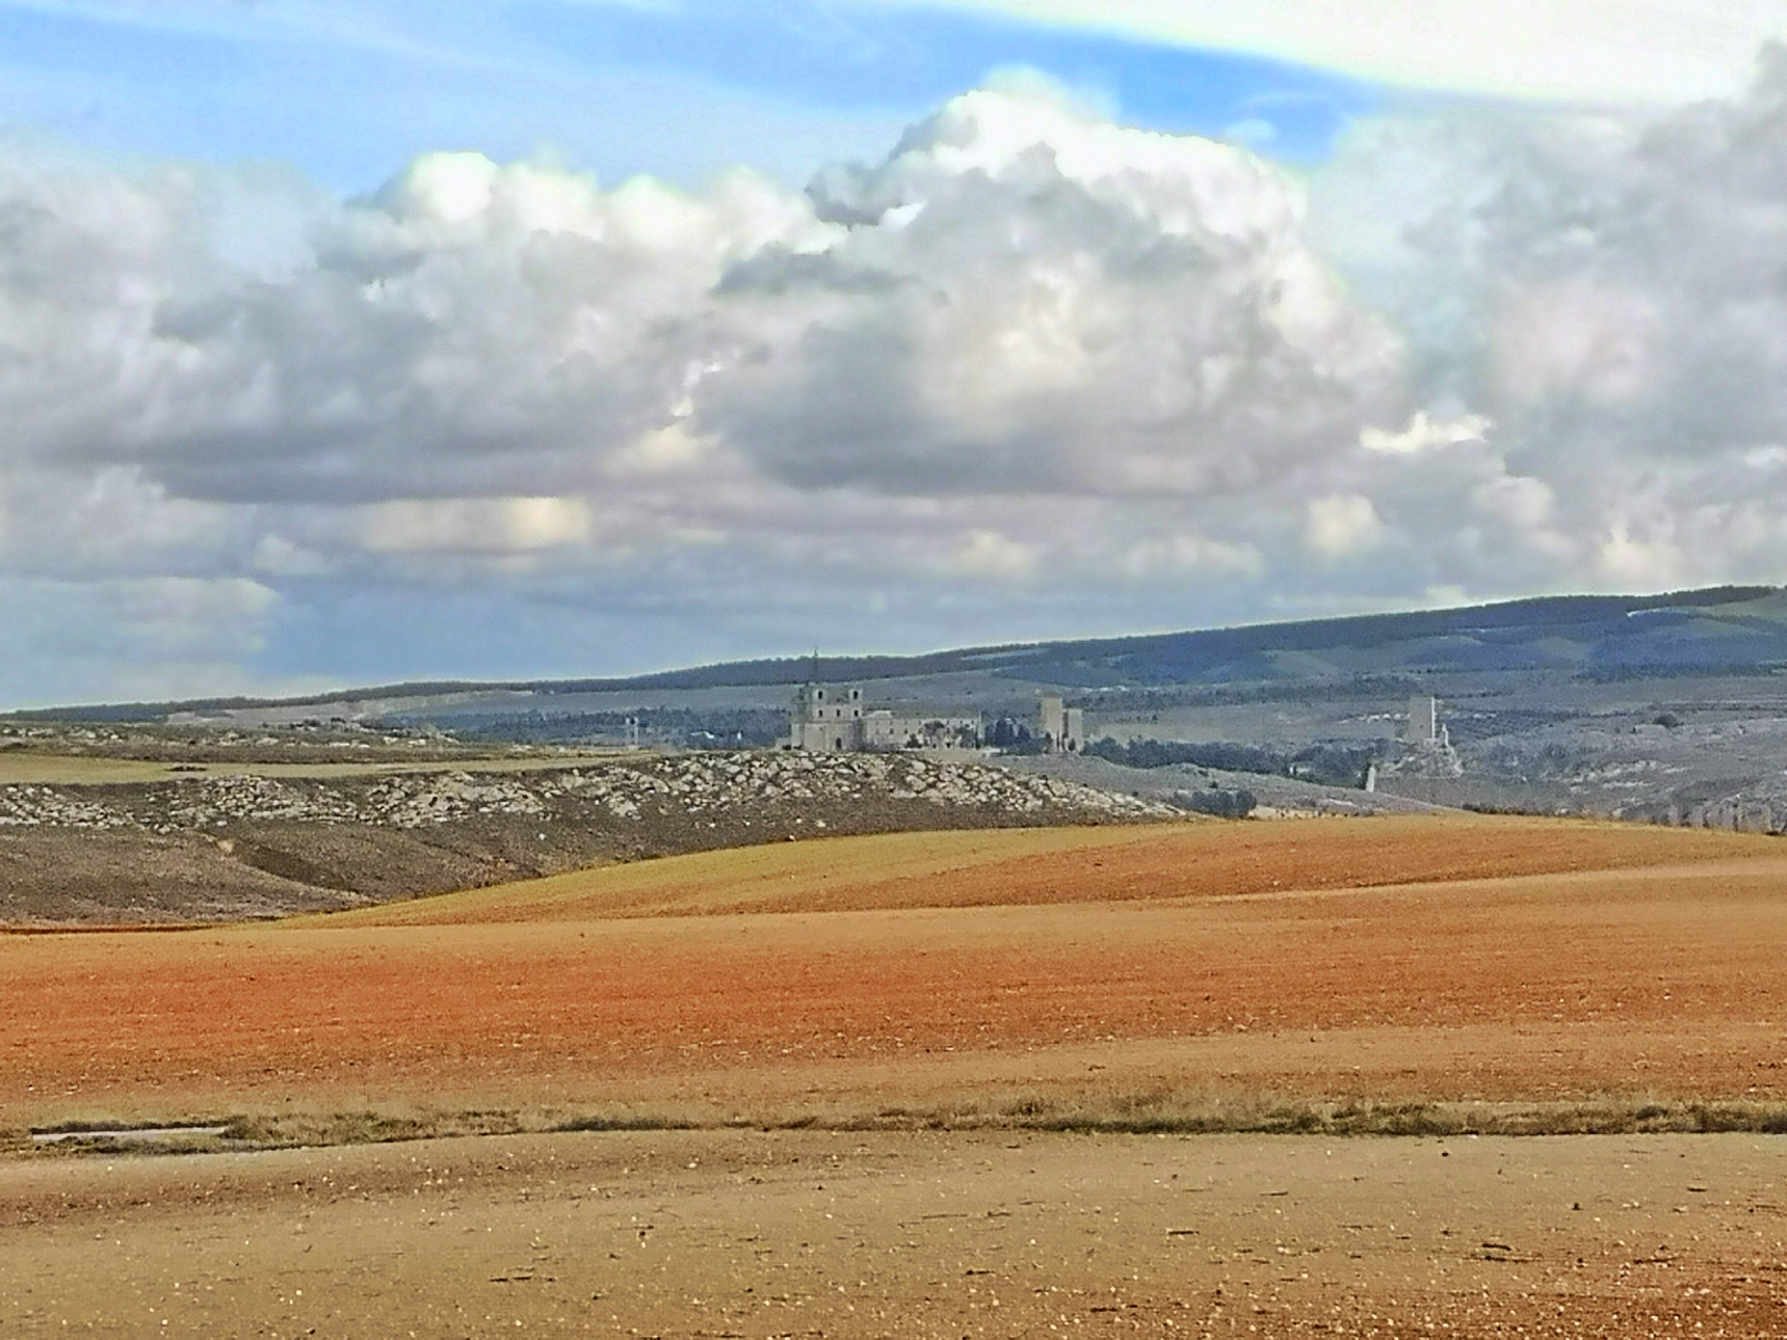
POLYGON ((602 867, 286 924, 1154 902, 1766 856, 1787 847, 1753 834, 1478 815, 892 833, 602 867))

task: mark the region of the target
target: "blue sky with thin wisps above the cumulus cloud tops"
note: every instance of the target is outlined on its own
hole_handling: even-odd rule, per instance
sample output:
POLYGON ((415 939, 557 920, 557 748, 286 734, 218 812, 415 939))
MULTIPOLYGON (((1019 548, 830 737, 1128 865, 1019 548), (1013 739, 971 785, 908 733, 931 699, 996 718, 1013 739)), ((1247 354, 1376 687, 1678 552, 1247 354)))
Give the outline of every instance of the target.
POLYGON ((829 161, 881 157, 902 125, 1015 66, 1122 120, 1292 163, 1321 159, 1378 102, 1256 57, 827 0, 114 14, 0 0, 0 125, 129 154, 277 159, 347 193, 432 148, 543 150, 608 182, 650 172, 684 186, 742 163, 801 186, 829 161))

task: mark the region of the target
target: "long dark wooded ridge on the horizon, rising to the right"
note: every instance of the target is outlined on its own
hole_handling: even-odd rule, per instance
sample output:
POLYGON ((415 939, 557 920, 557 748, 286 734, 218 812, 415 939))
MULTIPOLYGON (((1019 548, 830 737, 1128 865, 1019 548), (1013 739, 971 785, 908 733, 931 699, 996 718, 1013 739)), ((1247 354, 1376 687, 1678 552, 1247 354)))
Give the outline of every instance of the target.
POLYGON ((1063 690, 1324 681, 1421 672, 1553 672, 1583 679, 1771 674, 1787 668, 1787 590, 1553 595, 1456 609, 1353 615, 1188 632, 965 647, 922 656, 729 661, 620 679, 431 681, 297 699, 191 699, 14 713, 16 720, 152 720, 173 713, 390 704, 527 693, 763 688, 977 672, 1063 690))

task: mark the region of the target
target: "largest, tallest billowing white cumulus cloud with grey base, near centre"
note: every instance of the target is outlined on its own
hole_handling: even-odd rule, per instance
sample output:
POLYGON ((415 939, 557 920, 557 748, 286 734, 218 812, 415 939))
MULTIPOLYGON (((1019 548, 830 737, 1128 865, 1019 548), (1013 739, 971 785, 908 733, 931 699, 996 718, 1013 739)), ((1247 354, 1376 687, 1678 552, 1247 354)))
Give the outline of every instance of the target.
POLYGON ((1196 497, 1399 404, 1397 339, 1246 150, 977 91, 811 195, 836 236, 733 268, 749 334, 697 400, 797 486, 1196 497))

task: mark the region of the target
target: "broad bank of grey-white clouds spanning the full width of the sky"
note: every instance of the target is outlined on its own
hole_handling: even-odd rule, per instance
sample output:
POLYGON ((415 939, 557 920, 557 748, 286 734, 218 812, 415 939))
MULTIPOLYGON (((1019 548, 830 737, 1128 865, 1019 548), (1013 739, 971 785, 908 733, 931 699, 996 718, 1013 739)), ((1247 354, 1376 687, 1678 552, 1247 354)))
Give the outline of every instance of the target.
POLYGON ((731 607, 720 652, 806 641, 790 590, 951 641, 1787 559, 1778 50, 1669 114, 1362 123, 1306 182, 1011 88, 806 195, 0 150, 0 693, 114 643, 264 677, 306 582, 731 607))

